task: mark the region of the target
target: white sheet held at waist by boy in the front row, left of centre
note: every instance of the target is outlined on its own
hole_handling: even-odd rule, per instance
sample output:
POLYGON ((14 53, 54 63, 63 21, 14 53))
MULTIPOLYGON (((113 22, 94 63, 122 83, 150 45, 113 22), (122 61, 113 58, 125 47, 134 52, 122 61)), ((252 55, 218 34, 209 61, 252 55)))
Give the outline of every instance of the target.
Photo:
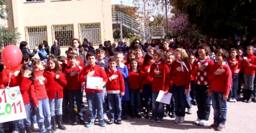
POLYGON ((101 77, 91 77, 87 76, 86 88, 96 89, 102 83, 103 79, 101 77))

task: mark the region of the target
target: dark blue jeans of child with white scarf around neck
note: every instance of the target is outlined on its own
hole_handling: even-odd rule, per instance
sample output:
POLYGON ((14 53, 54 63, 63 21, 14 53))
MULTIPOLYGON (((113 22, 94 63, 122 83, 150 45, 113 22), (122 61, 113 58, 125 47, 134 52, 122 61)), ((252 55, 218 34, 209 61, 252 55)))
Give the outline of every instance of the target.
POLYGON ((185 86, 173 85, 172 95, 174 97, 174 102, 175 102, 175 114, 178 117, 185 116, 186 95, 184 93, 185 93, 185 86))

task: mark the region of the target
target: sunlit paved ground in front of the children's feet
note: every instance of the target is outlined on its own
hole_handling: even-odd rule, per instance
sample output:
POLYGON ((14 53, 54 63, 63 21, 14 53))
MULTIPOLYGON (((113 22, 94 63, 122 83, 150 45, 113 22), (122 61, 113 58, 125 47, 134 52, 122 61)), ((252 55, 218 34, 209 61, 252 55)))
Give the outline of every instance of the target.
MULTIPOLYGON (((85 98, 84 98, 85 99, 85 98)), ((194 125, 197 119, 197 107, 192 107, 193 114, 185 116, 184 124, 175 124, 174 118, 164 117, 162 123, 149 122, 149 119, 129 119, 123 120, 121 125, 112 124, 106 127, 99 126, 98 122, 92 127, 83 125, 71 126, 65 124, 66 131, 57 130, 55 133, 211 133, 217 132, 209 129, 208 126, 194 125)), ((228 102, 228 114, 224 133, 255 133, 256 128, 256 103, 236 103, 228 102)), ((88 113, 87 113, 88 114, 88 113)), ((88 120, 87 115, 85 119, 88 120)), ((211 108, 210 122, 213 122, 213 108, 211 108)))

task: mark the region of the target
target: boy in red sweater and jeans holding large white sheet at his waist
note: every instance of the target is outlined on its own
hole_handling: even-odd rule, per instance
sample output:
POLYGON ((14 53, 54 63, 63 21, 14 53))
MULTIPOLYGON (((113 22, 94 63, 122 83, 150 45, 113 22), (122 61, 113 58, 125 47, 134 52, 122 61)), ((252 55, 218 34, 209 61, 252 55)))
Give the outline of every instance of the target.
POLYGON ((80 82, 85 82, 85 92, 86 99, 89 109, 89 122, 85 125, 86 127, 90 127, 94 125, 95 121, 95 112, 97 111, 97 118, 99 119, 99 124, 101 126, 106 126, 106 123, 103 121, 103 86, 108 81, 106 72, 99 65, 96 65, 95 55, 93 53, 88 53, 86 55, 86 59, 89 65, 83 68, 80 74, 80 82), (96 89, 86 88, 86 80, 88 76, 92 77, 101 77, 103 81, 99 83, 99 86, 96 89))

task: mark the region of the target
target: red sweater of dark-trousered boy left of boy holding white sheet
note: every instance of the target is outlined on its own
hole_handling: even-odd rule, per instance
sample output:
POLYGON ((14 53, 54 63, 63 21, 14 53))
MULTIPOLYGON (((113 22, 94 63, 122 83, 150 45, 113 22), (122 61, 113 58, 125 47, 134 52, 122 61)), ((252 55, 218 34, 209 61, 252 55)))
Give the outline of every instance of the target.
POLYGON ((79 80, 79 74, 75 74, 73 77, 70 76, 70 72, 73 71, 78 71, 79 74, 81 72, 80 68, 78 65, 75 65, 74 68, 71 66, 68 66, 64 70, 64 74, 66 75, 66 80, 67 80, 67 90, 81 90, 82 89, 82 83, 79 80))

